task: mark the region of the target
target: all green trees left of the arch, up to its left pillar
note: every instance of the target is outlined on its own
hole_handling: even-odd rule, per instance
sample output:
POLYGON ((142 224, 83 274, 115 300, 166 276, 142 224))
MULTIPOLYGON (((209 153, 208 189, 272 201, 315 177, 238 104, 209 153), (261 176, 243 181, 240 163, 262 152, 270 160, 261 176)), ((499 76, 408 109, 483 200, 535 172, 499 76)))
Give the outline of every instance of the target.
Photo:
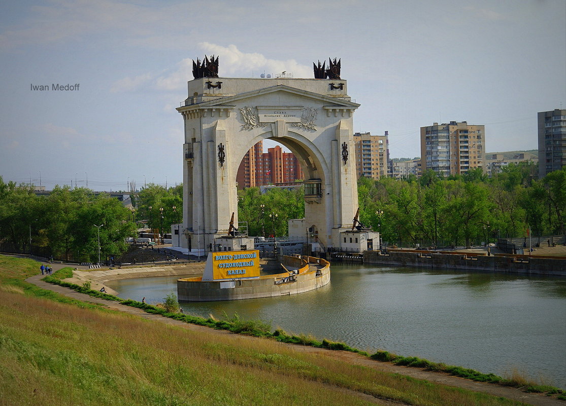
POLYGON ((0 248, 97 262, 99 236, 101 259, 118 258, 138 228, 168 233, 171 224, 182 221, 182 185, 165 189, 149 184, 131 195, 134 211, 87 188, 56 186, 49 196, 37 196, 33 189, 32 184, 5 183, 0 176, 0 248))

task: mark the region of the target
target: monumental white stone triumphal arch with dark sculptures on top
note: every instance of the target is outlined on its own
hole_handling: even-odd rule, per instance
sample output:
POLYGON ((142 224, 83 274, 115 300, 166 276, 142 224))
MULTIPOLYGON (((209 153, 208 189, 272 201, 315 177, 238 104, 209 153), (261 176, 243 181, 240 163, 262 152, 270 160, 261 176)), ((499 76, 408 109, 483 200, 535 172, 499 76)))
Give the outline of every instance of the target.
MULTIPOLYGON (((200 253, 237 224, 236 172, 256 142, 288 147, 305 174, 305 219, 324 247, 340 247, 358 208, 354 103, 340 61, 314 78, 218 77, 218 58, 193 63, 194 80, 177 111, 185 123, 182 247, 200 253)), ((277 208, 269 208, 277 210, 277 208)))

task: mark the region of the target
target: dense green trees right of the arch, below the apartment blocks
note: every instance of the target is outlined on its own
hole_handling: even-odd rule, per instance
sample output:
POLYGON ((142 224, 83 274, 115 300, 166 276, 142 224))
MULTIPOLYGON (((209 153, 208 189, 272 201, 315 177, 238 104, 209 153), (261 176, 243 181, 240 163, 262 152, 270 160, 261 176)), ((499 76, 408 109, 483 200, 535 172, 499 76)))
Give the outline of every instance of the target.
POLYGON ((444 178, 362 178, 361 222, 401 245, 471 245, 499 237, 564 234, 566 167, 537 179, 537 165, 510 164, 487 178, 482 169, 444 178), (383 211, 383 214, 380 212, 383 211))

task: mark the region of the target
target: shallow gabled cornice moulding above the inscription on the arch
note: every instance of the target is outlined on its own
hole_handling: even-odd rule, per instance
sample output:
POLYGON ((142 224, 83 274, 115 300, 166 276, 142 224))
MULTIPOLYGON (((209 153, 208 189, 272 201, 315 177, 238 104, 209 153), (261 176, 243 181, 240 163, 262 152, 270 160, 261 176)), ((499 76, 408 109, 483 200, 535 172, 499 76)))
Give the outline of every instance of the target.
POLYGON ((324 94, 309 92, 308 90, 297 89, 287 85, 276 85, 273 87, 263 88, 259 90, 254 90, 252 92, 239 93, 235 96, 226 96, 217 98, 214 100, 205 101, 203 103, 198 103, 194 107, 221 107, 221 106, 233 106, 234 103, 248 100, 251 98, 256 98, 258 96, 264 96, 273 93, 288 93, 294 97, 303 98, 307 100, 315 100, 319 103, 329 106, 329 107, 346 107, 352 110, 357 109, 360 105, 342 98, 325 96, 324 94))

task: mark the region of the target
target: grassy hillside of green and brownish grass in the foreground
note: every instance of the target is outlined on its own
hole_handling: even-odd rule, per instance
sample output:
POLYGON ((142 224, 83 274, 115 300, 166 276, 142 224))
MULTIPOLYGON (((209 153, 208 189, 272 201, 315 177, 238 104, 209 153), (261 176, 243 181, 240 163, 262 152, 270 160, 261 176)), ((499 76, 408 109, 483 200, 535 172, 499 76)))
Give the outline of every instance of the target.
POLYGON ((23 281, 36 273, 0 256, 0 405, 522 404, 128 316, 23 281))

